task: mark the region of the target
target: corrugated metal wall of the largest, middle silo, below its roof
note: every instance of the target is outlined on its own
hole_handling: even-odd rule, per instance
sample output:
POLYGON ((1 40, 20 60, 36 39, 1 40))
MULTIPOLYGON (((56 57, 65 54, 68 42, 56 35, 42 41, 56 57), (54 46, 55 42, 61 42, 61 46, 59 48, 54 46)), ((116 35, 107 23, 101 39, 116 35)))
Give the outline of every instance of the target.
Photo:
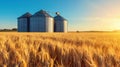
POLYGON ((51 17, 31 17, 30 31, 31 32, 53 32, 54 24, 51 17))

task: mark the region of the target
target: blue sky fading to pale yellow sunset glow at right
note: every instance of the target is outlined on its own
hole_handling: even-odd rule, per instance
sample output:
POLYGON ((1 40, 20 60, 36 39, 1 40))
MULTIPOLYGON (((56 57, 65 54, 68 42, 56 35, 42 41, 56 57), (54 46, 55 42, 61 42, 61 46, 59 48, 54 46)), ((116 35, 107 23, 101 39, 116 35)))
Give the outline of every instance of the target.
POLYGON ((17 28, 17 18, 43 9, 68 20, 69 31, 120 30, 120 0, 0 0, 0 29, 17 28))

